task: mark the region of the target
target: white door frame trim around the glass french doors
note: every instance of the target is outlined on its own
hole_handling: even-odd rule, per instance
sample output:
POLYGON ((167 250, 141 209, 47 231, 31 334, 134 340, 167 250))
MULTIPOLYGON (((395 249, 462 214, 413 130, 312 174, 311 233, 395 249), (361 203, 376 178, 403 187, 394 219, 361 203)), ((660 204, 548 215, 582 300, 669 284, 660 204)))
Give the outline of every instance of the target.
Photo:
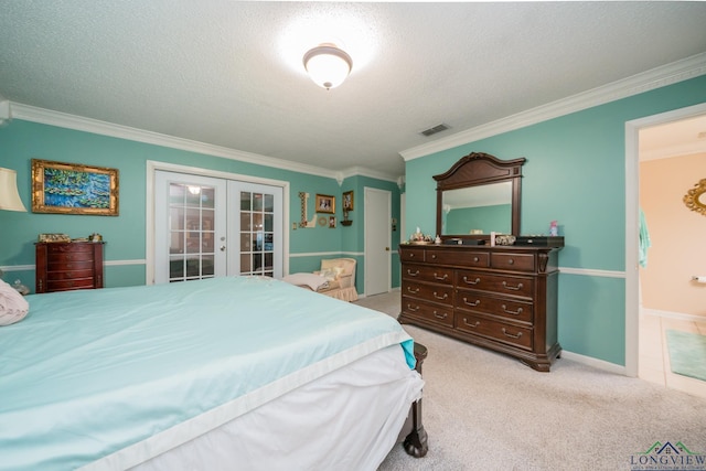
POLYGON ((167 172, 188 173, 192 175, 213 176, 224 180, 238 180, 248 183, 259 183, 282 188, 282 222, 285 231, 282 234, 282 271, 289 272, 289 182, 285 180, 263 179, 239 173, 222 172, 218 170, 201 169, 199 167, 180 165, 176 163, 147 161, 146 173, 146 195, 145 195, 145 283, 154 285, 154 172, 164 170, 167 172))

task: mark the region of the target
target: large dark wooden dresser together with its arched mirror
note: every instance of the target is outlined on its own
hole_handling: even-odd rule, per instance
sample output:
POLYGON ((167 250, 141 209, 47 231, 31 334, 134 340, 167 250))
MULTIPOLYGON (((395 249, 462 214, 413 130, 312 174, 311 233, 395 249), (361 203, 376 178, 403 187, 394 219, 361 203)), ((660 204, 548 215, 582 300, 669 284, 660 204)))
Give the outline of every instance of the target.
POLYGON ((548 372, 561 352, 557 290, 563 238, 517 237, 524 163, 473 152, 434 176, 440 243, 400 245, 398 320, 548 372), (498 237, 512 245, 493 244, 495 233, 514 236, 498 237))

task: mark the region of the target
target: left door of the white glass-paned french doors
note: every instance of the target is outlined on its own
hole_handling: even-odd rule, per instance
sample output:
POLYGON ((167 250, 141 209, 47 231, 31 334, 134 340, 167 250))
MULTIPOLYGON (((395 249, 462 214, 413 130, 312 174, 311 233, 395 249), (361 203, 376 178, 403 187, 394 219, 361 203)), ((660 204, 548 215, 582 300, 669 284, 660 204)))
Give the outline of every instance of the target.
POLYGON ((154 282, 225 276, 226 182, 154 173, 154 282))

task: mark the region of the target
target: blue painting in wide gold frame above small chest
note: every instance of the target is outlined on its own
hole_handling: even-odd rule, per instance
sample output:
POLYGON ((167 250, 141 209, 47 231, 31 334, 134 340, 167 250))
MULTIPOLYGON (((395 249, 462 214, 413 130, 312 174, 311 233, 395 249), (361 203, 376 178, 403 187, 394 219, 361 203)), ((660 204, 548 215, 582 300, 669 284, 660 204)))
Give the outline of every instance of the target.
POLYGON ((32 212, 117 216, 118 170, 32 159, 32 212))

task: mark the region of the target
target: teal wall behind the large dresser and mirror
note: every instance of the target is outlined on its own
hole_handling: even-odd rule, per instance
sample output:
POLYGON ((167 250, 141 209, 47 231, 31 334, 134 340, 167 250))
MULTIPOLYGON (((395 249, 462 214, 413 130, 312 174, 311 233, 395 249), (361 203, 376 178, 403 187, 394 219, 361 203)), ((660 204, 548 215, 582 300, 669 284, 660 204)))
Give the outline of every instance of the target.
MULTIPOLYGON (((556 220, 559 235, 566 237, 561 267, 623 272, 625 122, 705 101, 706 76, 700 76, 409 160, 407 225, 435 231, 431 175, 447 171, 461 157, 524 157, 522 233, 546 234, 556 220)), ((624 285, 621 277, 559 276, 559 342, 565 350, 625 364, 624 285)))

